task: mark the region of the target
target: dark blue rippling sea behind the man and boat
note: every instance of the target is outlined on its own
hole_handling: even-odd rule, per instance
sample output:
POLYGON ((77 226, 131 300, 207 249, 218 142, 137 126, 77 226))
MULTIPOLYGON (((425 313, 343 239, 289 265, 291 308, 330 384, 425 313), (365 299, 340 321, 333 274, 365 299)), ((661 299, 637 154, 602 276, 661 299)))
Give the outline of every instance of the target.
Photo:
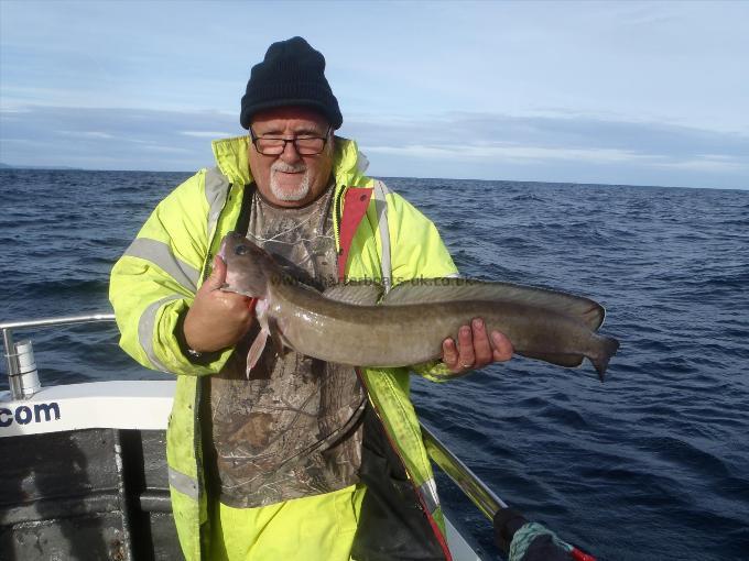
MULTIPOLYGON (((0 170, 0 321, 108 312, 109 272, 189 173, 0 170)), ((384 178, 460 272, 601 302, 621 342, 589 363, 513 358, 414 376, 421 418, 504 502, 600 560, 749 559, 749 190, 384 178)), ((163 380, 113 323, 33 337, 42 382, 163 380)), ((8 387, 0 376, 0 389, 8 387)), ((490 524, 438 475, 485 559, 490 524)))

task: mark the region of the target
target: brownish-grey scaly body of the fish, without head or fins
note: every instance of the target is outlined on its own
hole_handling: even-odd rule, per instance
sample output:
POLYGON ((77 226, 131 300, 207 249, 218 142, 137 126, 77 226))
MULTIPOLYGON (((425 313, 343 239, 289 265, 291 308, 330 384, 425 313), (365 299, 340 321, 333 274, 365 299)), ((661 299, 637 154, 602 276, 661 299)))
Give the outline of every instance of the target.
POLYGON ((474 318, 482 318, 489 330, 504 333, 520 354, 543 350, 587 355, 595 352, 597 343, 578 321, 540 315, 532 306, 511 302, 357 306, 351 310, 350 305, 289 285, 271 288, 270 294, 278 302, 273 315, 280 318, 279 327, 290 346, 344 364, 392 367, 438 359, 442 342, 474 318))

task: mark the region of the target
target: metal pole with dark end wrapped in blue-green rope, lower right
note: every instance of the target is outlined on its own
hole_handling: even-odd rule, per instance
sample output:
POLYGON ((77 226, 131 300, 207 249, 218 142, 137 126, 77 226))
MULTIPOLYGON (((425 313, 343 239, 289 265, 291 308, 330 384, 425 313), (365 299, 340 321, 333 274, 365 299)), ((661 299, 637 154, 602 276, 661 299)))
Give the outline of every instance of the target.
POLYGON ((596 558, 561 540, 539 522, 508 506, 423 422, 422 438, 430 458, 491 520, 495 541, 508 561, 596 561, 596 558))

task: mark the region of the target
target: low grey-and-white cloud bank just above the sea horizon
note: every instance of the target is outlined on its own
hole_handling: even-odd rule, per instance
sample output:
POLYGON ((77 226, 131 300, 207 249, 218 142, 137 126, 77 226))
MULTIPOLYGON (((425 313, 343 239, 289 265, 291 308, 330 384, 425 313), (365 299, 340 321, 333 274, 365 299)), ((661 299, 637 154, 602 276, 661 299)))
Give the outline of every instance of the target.
MULTIPOLYGON (((213 162, 209 140, 243 132, 235 116, 208 111, 26 109, 0 111, 3 163, 29 163, 33 153, 45 160, 37 165, 186 170, 213 162)), ((359 113, 344 129, 370 156, 371 173, 382 176, 724 188, 749 183, 749 135, 618 116, 359 113)))

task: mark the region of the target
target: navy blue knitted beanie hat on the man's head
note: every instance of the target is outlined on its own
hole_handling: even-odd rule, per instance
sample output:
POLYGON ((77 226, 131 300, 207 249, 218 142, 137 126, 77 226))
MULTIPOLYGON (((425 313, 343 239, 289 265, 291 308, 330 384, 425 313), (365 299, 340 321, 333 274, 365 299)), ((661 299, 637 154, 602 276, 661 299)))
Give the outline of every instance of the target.
POLYGON ((289 106, 318 110, 334 129, 344 122, 338 100, 325 78, 325 57, 302 37, 273 43, 262 63, 252 67, 239 122, 249 129, 258 111, 289 106))

